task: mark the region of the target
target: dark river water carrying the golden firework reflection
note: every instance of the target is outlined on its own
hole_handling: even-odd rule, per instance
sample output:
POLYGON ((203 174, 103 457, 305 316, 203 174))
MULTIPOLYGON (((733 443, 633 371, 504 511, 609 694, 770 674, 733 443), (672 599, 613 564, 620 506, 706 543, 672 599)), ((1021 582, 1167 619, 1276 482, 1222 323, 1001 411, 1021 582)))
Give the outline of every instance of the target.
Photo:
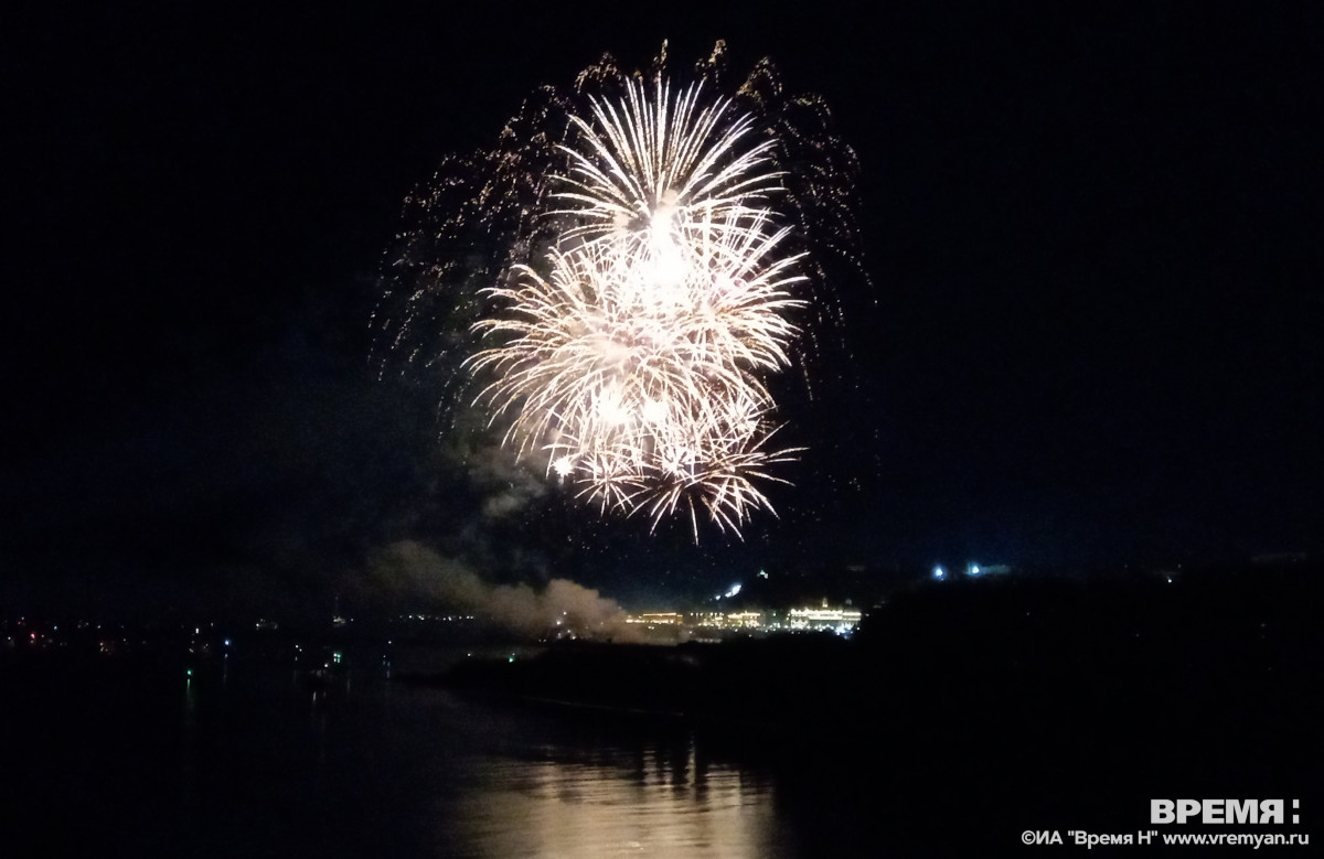
POLYGON ((739 858, 824 855, 858 836, 685 725, 585 723, 402 684, 388 679, 399 655, 342 664, 326 684, 287 654, 222 656, 192 676, 11 683, 8 843, 29 844, 17 855, 739 858))

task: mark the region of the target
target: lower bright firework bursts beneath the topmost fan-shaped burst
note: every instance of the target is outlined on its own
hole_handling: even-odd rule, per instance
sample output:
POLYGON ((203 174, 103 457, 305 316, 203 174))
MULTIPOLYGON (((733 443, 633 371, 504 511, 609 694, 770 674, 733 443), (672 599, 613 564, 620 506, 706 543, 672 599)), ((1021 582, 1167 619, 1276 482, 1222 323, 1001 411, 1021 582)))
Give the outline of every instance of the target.
MULTIPOLYGON (((785 311, 794 257, 785 230, 710 233, 724 241, 604 236, 553 251, 496 287, 508 314, 478 323, 502 345, 475 355, 495 381, 479 394, 514 417, 506 439, 601 507, 657 520, 698 500, 723 525, 769 507, 751 482, 790 451, 765 446, 775 404, 760 372, 788 364, 785 311)), ((769 507, 771 508, 771 507, 769 507)))

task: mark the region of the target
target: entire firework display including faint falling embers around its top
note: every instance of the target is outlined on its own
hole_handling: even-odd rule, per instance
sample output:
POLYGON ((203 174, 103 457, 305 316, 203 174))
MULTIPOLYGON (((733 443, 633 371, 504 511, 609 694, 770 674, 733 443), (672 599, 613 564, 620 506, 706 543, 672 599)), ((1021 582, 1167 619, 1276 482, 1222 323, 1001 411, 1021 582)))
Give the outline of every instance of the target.
MULTIPOLYGON (((552 98, 556 110, 532 119, 526 106, 503 140, 530 143, 489 158, 457 214, 414 241, 459 246, 469 217, 482 238, 510 242, 454 306, 477 311, 479 344, 459 364, 469 402, 515 457, 604 512, 642 511, 654 527, 687 512, 695 540, 702 512, 739 533, 753 511, 772 512, 759 484, 785 483, 775 466, 802 450, 773 445, 768 384, 792 365, 801 316, 825 316, 806 289, 825 278, 804 234, 806 201, 831 195, 779 167, 790 148, 779 131, 794 123, 714 98, 703 81, 673 91, 661 70, 645 79, 606 64, 600 93, 552 98)), ((433 200, 463 184, 438 173, 433 200)), ((485 244, 473 236, 465 244, 485 244)), ((402 262, 434 285, 459 274, 421 254, 402 262)), ((437 291, 409 296, 397 348, 437 291)))

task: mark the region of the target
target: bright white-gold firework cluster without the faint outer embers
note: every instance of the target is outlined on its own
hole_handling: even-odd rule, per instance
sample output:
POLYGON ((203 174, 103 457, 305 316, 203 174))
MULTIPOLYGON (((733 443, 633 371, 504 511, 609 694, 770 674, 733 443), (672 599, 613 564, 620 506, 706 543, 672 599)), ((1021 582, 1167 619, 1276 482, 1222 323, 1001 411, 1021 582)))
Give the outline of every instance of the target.
POLYGON ((545 455, 580 496, 654 524, 682 504, 694 521, 698 504, 739 532, 771 510, 752 480, 794 453, 768 449, 760 379, 789 364, 802 278, 764 208, 780 191, 772 142, 751 144, 730 101, 699 110, 699 91, 673 102, 634 81, 592 120, 572 116, 547 275, 515 266, 486 290, 503 312, 475 328, 500 343, 469 364, 495 379, 478 401, 510 416, 506 443, 545 455))

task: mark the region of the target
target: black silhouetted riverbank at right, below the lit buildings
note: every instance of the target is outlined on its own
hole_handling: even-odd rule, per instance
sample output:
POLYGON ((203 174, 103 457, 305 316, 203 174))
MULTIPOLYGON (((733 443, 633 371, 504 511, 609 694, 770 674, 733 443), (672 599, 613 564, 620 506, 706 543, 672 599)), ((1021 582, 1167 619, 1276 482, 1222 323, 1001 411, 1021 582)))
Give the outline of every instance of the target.
POLYGON ((1313 807, 1319 573, 952 582, 871 611, 850 641, 576 643, 434 680, 577 721, 690 725, 842 814, 908 809, 916 846, 1131 831, 1160 797, 1313 807))

